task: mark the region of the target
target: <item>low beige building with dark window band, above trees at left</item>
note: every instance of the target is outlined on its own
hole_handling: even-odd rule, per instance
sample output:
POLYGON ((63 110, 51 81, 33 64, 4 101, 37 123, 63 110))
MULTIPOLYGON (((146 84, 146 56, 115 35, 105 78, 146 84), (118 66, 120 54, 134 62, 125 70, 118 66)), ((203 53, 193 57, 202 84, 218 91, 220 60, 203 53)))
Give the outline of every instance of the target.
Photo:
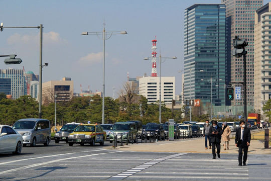
POLYGON ((70 101, 73 97, 72 80, 51 80, 42 84, 42 104, 48 105, 54 102, 57 95, 58 102, 70 101))

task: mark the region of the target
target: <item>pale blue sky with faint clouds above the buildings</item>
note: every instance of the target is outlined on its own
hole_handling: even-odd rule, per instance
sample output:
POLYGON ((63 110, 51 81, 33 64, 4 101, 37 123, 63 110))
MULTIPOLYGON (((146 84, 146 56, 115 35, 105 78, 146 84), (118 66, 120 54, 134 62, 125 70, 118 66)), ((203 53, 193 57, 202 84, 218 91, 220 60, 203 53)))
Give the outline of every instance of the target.
MULTIPOLYGON (((263 5, 269 1, 264 0, 263 5)), ((105 96, 117 98, 129 78, 151 76, 152 40, 157 39, 159 55, 176 56, 161 63, 161 76, 175 76, 176 94, 182 92, 184 69, 184 11, 194 4, 220 4, 220 0, 0 0, 0 23, 4 27, 38 27, 43 25, 42 82, 70 77, 74 92, 88 87, 102 92, 103 41, 82 32, 126 31, 105 40, 105 96), (105 24, 105 25, 104 25, 105 24), (114 92, 113 92, 114 88, 114 92)), ((16 54, 23 62, 4 64, 0 69, 15 68, 39 74, 40 30, 4 29, 0 32, 0 55, 16 54)))

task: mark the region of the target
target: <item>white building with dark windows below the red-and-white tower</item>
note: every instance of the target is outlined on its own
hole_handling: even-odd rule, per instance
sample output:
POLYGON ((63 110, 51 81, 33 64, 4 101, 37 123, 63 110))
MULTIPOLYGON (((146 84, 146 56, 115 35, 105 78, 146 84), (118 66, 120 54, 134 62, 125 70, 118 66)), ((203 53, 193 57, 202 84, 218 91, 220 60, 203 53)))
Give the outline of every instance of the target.
MULTIPOLYGON (((139 94, 148 99, 148 104, 159 101, 160 77, 142 77, 139 79, 139 94)), ((161 101, 171 104, 175 99, 175 77, 161 77, 161 101)))

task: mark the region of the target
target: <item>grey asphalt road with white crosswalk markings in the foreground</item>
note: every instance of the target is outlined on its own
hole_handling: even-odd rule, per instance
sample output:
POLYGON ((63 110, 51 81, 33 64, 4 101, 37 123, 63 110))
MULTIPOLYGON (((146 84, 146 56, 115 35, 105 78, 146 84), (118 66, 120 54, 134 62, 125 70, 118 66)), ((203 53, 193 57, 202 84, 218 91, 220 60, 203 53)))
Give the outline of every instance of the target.
POLYGON ((0 154, 0 180, 269 180, 270 155, 133 152, 104 146, 23 147, 21 155, 0 154))

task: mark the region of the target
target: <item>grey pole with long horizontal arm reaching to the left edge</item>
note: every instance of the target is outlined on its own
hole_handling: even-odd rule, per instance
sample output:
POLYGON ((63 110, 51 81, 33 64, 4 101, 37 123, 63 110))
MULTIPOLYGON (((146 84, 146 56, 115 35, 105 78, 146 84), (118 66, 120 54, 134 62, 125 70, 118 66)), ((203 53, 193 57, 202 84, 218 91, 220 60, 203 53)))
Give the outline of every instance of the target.
POLYGON ((1 23, 0 26, 0 31, 3 31, 5 28, 38 28, 40 29, 40 76, 39 76, 39 89, 40 89, 40 93, 39 93, 39 118, 42 117, 42 24, 40 26, 37 27, 4 27, 4 24, 1 23))

